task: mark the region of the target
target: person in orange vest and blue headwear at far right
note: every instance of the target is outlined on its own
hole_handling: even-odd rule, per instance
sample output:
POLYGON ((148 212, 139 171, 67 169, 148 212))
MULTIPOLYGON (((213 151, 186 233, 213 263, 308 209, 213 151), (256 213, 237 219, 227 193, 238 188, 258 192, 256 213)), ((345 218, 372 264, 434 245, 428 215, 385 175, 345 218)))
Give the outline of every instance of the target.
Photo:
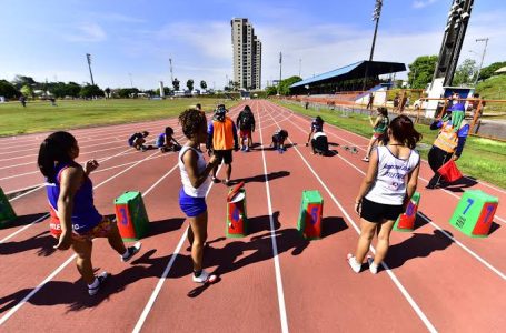
POLYGON ((430 130, 439 130, 439 133, 428 153, 428 163, 434 171, 434 176, 428 182, 427 189, 435 189, 438 185, 441 178, 437 171, 439 168, 450 159, 457 161, 462 155, 469 133, 469 124, 464 120, 464 110, 463 101, 457 101, 446 110, 441 119, 436 119, 430 124, 430 130))

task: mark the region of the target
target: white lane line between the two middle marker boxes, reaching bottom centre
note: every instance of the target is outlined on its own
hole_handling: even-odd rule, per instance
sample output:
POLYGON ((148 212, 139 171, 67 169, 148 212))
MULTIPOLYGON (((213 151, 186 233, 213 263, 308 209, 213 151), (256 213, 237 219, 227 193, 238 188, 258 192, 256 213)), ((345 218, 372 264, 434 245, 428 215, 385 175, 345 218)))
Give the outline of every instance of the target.
MULTIPOLYGON (((266 111, 265 107, 262 108, 262 111, 264 112, 266 111)), ((258 114, 258 118, 260 118, 258 109, 257 109, 257 114, 258 114)), ((274 120, 274 118, 272 118, 272 120, 274 120)), ((261 123, 260 123, 260 143, 264 147, 264 133, 262 133, 261 123)), ((278 292, 279 319, 281 321, 281 332, 288 333, 288 320, 287 320, 287 312, 286 312, 286 305, 285 305, 285 293, 282 291, 281 266, 279 263, 278 244, 276 242, 276 230, 275 230, 275 224, 274 224, 274 219, 272 219, 272 204, 271 204, 271 200, 270 200, 270 184, 269 184, 269 179, 267 175, 267 162, 266 162, 265 150, 261 151, 261 157, 262 157, 262 161, 264 161, 264 178, 265 178, 265 184, 266 184, 267 206, 269 210, 270 240, 272 243, 272 259, 274 259, 274 266, 275 266, 275 272, 276 272, 276 290, 278 292)))

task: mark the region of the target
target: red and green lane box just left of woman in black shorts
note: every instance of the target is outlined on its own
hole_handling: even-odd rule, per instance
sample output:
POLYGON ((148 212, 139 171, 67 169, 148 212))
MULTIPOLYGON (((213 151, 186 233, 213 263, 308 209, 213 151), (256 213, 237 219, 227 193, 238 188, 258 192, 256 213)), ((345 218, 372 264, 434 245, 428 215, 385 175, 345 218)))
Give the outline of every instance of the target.
POLYGON ((321 239, 321 215, 324 199, 318 191, 304 191, 300 203, 298 231, 308 240, 321 239))

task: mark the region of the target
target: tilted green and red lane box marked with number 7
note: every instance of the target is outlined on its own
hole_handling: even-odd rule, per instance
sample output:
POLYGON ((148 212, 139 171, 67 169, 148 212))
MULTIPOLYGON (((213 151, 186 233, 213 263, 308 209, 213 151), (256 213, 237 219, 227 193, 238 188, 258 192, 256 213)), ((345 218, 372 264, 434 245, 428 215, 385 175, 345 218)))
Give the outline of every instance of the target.
POLYGON ((472 238, 486 238, 499 199, 479 190, 465 191, 449 223, 472 238))

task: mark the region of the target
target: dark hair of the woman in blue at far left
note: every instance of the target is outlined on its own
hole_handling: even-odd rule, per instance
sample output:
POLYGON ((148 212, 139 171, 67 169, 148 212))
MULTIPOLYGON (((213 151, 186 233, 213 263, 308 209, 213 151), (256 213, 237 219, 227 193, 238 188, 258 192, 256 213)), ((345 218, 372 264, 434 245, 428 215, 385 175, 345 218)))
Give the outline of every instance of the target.
POLYGON ((54 132, 42 141, 37 164, 48 182, 56 182, 54 163, 70 162, 70 150, 77 144, 76 138, 68 132, 54 132))

